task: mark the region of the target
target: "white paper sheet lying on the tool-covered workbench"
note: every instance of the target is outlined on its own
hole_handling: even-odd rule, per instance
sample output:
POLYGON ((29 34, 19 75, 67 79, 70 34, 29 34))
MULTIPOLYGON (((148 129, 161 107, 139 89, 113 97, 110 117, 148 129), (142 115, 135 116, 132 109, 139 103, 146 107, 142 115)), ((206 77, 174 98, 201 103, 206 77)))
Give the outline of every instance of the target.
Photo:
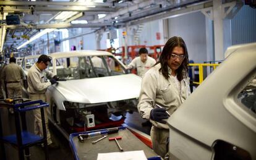
POLYGON ((97 160, 147 160, 144 151, 98 153, 97 160))

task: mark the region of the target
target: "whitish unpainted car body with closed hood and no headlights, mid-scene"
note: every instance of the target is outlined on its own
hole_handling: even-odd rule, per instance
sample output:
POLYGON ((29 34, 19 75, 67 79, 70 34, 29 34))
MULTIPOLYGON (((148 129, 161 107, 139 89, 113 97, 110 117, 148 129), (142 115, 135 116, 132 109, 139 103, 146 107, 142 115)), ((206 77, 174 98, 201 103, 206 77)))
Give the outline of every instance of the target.
POLYGON ((86 126, 86 117, 103 108, 107 116, 137 111, 141 78, 127 74, 126 66, 113 54, 70 51, 48 56, 52 58, 49 70, 66 80, 49 86, 46 91, 49 119, 54 124, 74 127, 75 121, 85 121, 86 126), (102 61, 100 65, 93 60, 95 56, 96 61, 102 61))

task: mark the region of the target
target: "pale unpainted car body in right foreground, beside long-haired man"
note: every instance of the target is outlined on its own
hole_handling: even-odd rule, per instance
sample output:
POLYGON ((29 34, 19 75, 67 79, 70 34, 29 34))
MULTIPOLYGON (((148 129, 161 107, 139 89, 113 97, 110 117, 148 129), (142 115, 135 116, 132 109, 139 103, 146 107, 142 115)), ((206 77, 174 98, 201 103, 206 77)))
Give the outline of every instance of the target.
POLYGON ((170 159, 256 159, 256 43, 226 56, 169 118, 170 159))

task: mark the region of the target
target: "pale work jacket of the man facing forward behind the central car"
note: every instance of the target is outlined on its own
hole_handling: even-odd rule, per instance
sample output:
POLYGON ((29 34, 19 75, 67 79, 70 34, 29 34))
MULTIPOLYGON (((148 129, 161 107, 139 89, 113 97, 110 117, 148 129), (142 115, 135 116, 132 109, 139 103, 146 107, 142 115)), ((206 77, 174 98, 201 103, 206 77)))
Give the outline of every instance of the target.
POLYGON ((127 65, 128 69, 137 69, 137 74, 140 77, 143 77, 143 75, 156 63, 155 59, 148 56, 148 59, 146 62, 142 62, 140 60, 140 57, 135 57, 135 59, 130 62, 130 64, 127 65))

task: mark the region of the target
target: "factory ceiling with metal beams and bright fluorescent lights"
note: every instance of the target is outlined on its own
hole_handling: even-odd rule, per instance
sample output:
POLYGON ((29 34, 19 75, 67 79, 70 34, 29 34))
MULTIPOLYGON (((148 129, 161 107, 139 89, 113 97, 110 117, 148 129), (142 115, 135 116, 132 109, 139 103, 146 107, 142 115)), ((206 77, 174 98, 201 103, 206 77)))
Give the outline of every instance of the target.
MULTIPOLYGON (((95 30, 109 27, 121 28, 154 20, 161 14, 186 9, 191 6, 202 5, 203 7, 210 7, 212 6, 212 1, 32 0, 0 1, 0 4, 0 46, 2 48, 2 44, 4 44, 5 47, 17 48, 33 35, 46 28, 50 31, 56 28, 94 28, 95 30), (7 25, 4 21, 6 15, 19 15, 20 24, 7 25)), ((161 17, 161 19, 163 18, 161 17)))

